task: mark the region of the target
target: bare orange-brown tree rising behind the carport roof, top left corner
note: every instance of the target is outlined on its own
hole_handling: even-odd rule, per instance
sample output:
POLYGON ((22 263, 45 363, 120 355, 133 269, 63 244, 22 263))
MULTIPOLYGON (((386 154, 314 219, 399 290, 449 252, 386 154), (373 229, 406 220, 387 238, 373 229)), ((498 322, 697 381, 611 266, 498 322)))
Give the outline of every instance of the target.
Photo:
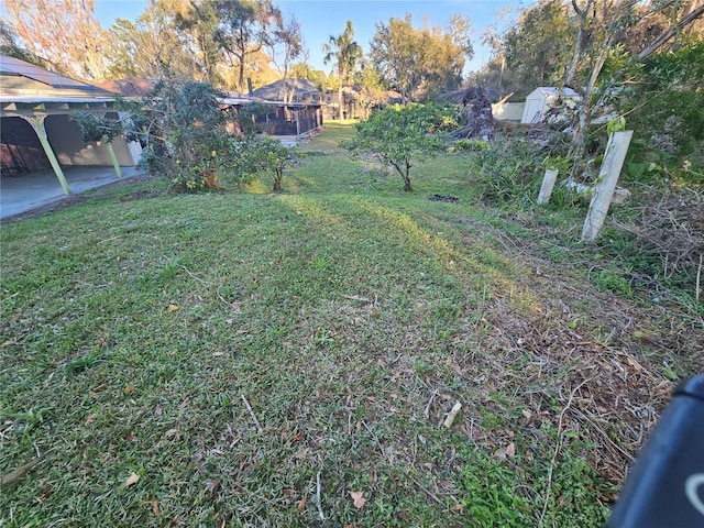
POLYGON ((24 47, 57 72, 103 80, 106 31, 95 0, 6 0, 10 23, 24 47))

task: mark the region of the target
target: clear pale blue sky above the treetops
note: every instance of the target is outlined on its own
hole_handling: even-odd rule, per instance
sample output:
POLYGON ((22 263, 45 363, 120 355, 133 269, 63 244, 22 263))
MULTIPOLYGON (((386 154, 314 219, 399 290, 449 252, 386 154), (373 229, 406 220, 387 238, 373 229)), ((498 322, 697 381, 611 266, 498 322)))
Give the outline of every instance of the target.
MULTIPOLYGON (((146 3, 144 0, 96 0, 96 15, 105 28, 109 28, 116 18, 134 20, 146 3)), ((480 42, 487 25, 495 24, 499 29, 510 25, 518 15, 518 8, 531 6, 536 0, 275 0, 275 3, 287 18, 296 15, 310 50, 310 65, 326 72, 330 66, 322 63, 322 44, 330 35, 342 33, 348 19, 354 25, 356 42, 366 53, 380 21, 403 18, 409 12, 417 28, 426 18, 430 25, 444 25, 452 14, 460 13, 469 16, 473 26, 475 57, 465 67, 469 72, 479 69, 488 59, 488 50, 480 42), (507 8, 513 8, 512 14, 499 16, 507 8)))

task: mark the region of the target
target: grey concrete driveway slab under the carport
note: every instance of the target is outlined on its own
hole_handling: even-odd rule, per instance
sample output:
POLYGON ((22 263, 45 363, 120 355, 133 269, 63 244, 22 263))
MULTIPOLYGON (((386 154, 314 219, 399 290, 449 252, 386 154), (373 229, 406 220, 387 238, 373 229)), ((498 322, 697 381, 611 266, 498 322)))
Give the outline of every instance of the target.
MULTIPOLYGON (((72 195, 144 174, 140 168, 122 167, 122 178, 112 167, 62 167, 72 195)), ((21 215, 65 199, 58 179, 50 168, 22 176, 0 178, 0 219, 21 215)))

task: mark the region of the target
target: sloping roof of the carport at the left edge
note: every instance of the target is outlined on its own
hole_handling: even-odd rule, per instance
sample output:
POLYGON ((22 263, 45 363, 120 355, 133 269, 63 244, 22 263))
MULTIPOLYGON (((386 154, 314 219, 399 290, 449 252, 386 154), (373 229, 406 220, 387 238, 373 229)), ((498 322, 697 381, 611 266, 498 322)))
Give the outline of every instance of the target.
POLYGON ((73 99, 111 98, 112 94, 34 64, 0 55, 0 96, 73 99))

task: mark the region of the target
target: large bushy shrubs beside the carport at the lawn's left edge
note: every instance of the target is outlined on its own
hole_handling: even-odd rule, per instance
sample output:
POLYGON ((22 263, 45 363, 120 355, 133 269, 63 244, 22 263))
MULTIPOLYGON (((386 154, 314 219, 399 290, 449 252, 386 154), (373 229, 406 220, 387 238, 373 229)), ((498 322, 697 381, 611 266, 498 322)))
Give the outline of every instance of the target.
POLYGON ((222 182, 243 186, 262 175, 272 177, 274 191, 280 190, 284 170, 298 158, 296 148, 257 138, 253 118, 266 113, 266 107, 227 107, 219 95, 208 84, 168 79, 142 101, 127 105, 128 138, 143 147, 140 163, 183 191, 217 189, 222 182))

